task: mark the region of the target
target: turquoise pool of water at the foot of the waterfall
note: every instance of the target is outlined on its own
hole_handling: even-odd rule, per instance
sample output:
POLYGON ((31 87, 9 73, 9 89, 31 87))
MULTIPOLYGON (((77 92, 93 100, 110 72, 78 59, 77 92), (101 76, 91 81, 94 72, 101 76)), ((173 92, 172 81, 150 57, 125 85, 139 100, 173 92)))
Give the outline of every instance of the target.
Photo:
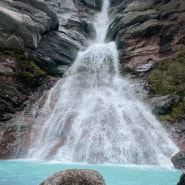
POLYGON ((39 185, 54 172, 71 168, 97 170, 106 185, 176 185, 181 171, 154 166, 61 164, 59 162, 0 160, 0 185, 39 185))

